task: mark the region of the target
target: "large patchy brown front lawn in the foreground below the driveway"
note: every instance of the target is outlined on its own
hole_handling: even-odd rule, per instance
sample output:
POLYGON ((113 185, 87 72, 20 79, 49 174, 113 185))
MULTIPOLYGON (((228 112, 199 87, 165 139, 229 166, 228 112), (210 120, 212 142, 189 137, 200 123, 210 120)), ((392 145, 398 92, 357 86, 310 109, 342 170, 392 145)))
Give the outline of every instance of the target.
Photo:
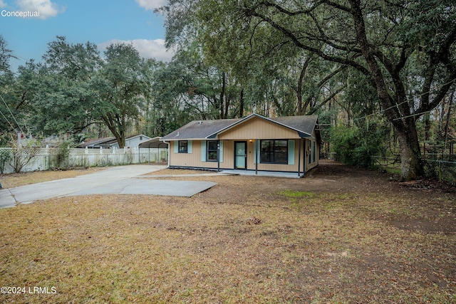
POLYGON ((0 302, 456 302, 455 194, 333 163, 172 179, 218 184, 0 209, 0 282, 26 287, 0 302))

